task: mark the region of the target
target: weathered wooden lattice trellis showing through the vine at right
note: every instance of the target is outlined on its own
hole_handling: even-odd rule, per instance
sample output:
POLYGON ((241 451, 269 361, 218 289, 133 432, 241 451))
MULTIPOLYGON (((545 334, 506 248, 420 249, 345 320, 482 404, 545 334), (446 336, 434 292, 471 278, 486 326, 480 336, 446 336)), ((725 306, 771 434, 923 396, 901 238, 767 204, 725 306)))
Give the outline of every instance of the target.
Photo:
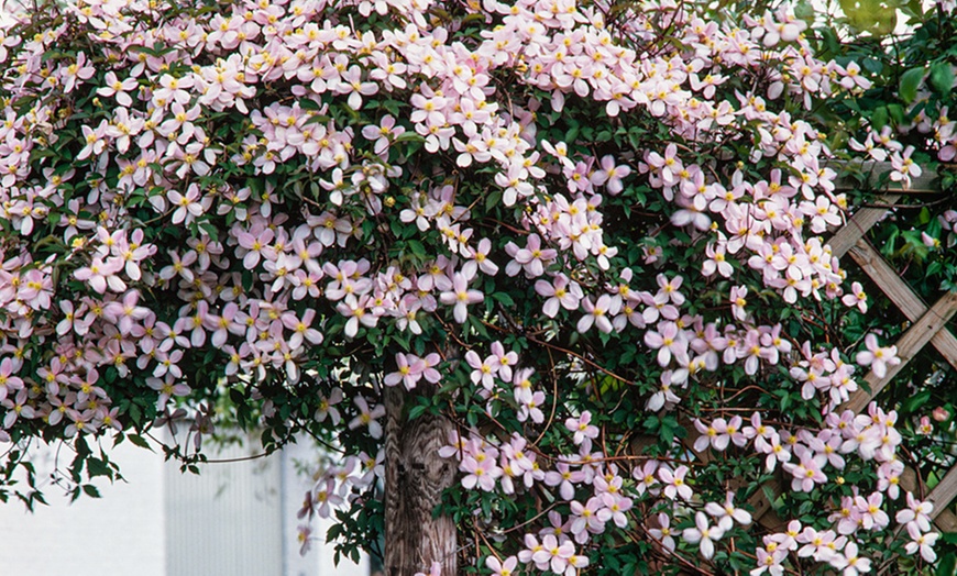
MULTIPOLYGON (((871 185, 877 185, 880 175, 890 171, 890 163, 867 163, 862 166, 864 173, 868 173, 871 185)), ((867 232, 877 224, 888 211, 893 208, 902 195, 927 193, 936 191, 932 187, 933 175, 924 175, 915 179, 908 190, 900 189, 893 182, 892 189, 879 199, 873 207, 857 210, 854 217, 834 234, 829 241, 832 252, 837 257, 849 255, 850 258, 864 270, 901 312, 912 322, 906 332, 895 342, 898 356, 901 364, 889 367, 883 377, 878 377, 872 370, 867 374, 869 390, 864 387, 850 395, 850 398, 838 410, 850 409, 856 412, 864 410, 867 405, 891 381, 891 379, 927 344, 932 344, 941 355, 955 368, 957 368, 957 337, 947 328, 947 322, 957 313, 957 292, 944 295, 933 306, 927 306, 908 284, 901 279, 898 273, 884 261, 880 253, 867 240, 867 232), (897 189, 893 189, 897 187, 897 189)), ((838 189, 851 189, 857 184, 849 179, 837 182, 838 189)), ((690 428, 692 431, 693 428, 690 428)), ((690 450, 694 444, 694 434, 686 439, 690 450)), ((696 451, 695 451, 696 452, 696 451)), ((702 459, 707 459, 708 453, 697 453, 702 459)), ((941 479, 930 494, 925 494, 917 474, 912 468, 905 468, 901 475, 901 487, 913 491, 919 498, 922 497, 934 503, 931 517, 936 528, 943 532, 957 532, 957 514, 950 510, 950 503, 957 498, 957 466, 941 479)), ((770 530, 781 530, 784 521, 779 518, 766 496, 766 491, 773 495, 782 494, 781 481, 777 478, 767 483, 765 488, 758 490, 748 499, 748 505, 754 508, 751 514, 755 521, 770 530)))

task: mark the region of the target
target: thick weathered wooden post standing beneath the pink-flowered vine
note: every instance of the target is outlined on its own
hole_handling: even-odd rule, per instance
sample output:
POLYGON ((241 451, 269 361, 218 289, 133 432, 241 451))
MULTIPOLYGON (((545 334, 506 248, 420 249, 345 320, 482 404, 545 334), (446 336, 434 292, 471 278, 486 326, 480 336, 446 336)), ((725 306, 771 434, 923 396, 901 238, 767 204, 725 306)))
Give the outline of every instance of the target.
POLYGON ((384 390, 385 439, 385 576, 429 574, 433 562, 442 576, 454 576, 455 522, 432 518, 442 490, 455 481, 453 462, 439 457, 449 442, 452 422, 422 414, 409 422, 403 405, 413 394, 398 386, 384 390))

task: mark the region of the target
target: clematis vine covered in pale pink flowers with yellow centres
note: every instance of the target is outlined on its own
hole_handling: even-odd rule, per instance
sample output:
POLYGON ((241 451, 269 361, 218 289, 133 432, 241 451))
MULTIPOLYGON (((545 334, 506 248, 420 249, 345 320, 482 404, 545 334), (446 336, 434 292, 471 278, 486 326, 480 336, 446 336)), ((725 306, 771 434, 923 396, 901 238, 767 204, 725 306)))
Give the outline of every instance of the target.
MULTIPOLYGON (((849 341, 880 295, 828 241, 858 198, 835 160, 906 186, 953 159, 946 110, 848 108, 878 60, 785 2, 207 4, 0 27, 0 442, 70 444, 79 495, 91 441, 185 421, 193 466, 221 424, 312 437, 337 455, 298 545, 337 518, 354 551, 387 436, 441 421, 426 512, 477 536, 409 574, 935 561, 903 446, 949 416, 843 408, 900 326, 849 341)), ((926 228, 909 250, 946 257, 957 211, 926 228)))

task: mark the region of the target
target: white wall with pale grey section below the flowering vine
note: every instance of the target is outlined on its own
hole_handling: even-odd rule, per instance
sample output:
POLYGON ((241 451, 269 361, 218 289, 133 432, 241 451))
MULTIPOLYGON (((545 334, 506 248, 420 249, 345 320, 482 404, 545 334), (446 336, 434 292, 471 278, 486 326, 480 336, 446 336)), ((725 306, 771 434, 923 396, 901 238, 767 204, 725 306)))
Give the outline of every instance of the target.
MULTIPOLYGON (((209 447, 210 458, 254 453, 209 447)), ((47 486, 51 506, 33 514, 22 503, 0 503, 0 576, 367 576, 366 558, 336 567, 332 547, 321 542, 299 556, 296 511, 310 483, 293 461, 311 459, 311 450, 293 445, 285 455, 207 464, 195 476, 165 463, 161 451, 123 443, 109 456, 128 484, 97 478, 101 499, 69 505, 47 486)), ((53 454, 34 454, 40 477, 53 454)))

